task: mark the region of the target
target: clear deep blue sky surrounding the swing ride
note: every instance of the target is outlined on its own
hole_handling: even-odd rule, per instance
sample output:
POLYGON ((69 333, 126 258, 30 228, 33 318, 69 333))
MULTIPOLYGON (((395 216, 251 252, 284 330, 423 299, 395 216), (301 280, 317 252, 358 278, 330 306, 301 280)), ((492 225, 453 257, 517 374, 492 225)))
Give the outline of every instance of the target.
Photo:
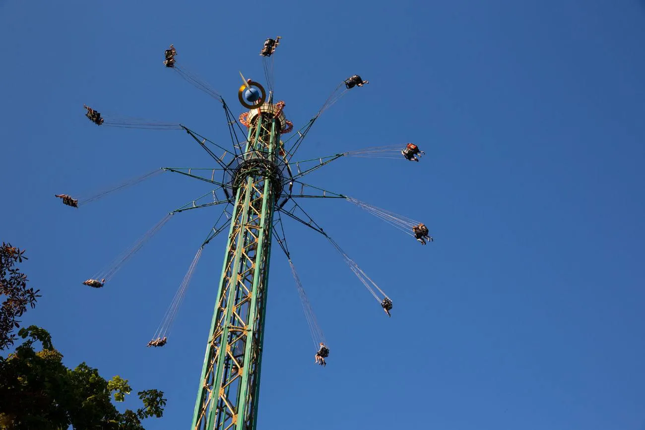
POLYGON ((79 193, 162 166, 211 166, 183 132, 99 128, 103 112, 183 122, 228 144, 238 71, 281 35, 276 94, 296 126, 339 81, 301 158, 417 142, 419 163, 341 159, 313 184, 421 219, 422 247, 342 201, 304 202, 394 300, 386 318, 323 237, 292 222, 293 260, 332 355, 272 258, 260 429, 645 429, 645 2, 0 0, 0 239, 26 248, 46 327, 85 360, 168 397, 148 429, 188 428, 221 271, 204 251, 168 345, 146 348, 219 213, 176 215, 104 289, 80 283, 208 191, 166 173, 80 210, 79 193), (355 6, 353 6, 355 4, 355 6))

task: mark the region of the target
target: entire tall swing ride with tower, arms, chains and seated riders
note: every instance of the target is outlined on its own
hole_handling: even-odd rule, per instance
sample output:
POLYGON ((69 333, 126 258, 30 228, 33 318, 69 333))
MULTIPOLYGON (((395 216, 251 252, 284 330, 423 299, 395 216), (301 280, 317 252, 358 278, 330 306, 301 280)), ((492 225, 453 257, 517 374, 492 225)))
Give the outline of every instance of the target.
MULTIPOLYGON (((272 54, 275 46, 279 44, 279 39, 280 37, 267 39, 261 52, 268 97, 266 97, 267 92, 261 84, 242 77, 244 85, 238 90, 238 98, 246 111, 239 116, 239 120, 235 119, 235 115, 219 93, 175 61, 174 56, 177 55, 177 51, 173 45, 170 45, 170 49, 165 52, 164 65, 166 68, 174 70, 185 81, 222 103, 232 139, 231 147, 224 148, 182 124, 101 115, 94 109, 85 106, 88 111, 86 117, 94 124, 103 127, 183 130, 208 152, 212 160, 217 163, 217 168, 166 167, 147 173, 142 177, 130 179, 124 184, 119 184, 88 198, 78 200, 72 199, 70 195, 56 195, 56 197, 63 199, 63 204, 83 206, 108 193, 121 190, 125 186, 137 184, 143 179, 152 177, 155 173, 161 173, 161 171, 179 173, 201 182, 208 182, 216 187, 181 208, 168 213, 131 248, 117 257, 108 268, 97 273, 93 279, 84 282, 85 285, 95 288, 103 288, 106 282, 111 282, 119 267, 137 253, 144 242, 150 239, 156 231, 159 231, 173 214, 199 208, 223 206, 219 219, 197 250, 194 260, 154 337, 148 342, 148 347, 161 347, 166 344, 167 335, 170 333, 170 328, 179 306, 181 306, 202 249, 213 238, 220 233, 223 234, 228 227, 224 262, 217 284, 215 309, 206 341, 206 353, 199 379, 192 430, 256 430, 257 428, 269 259, 273 236, 290 264, 303 305, 304 316, 312 335, 313 345, 318 348, 319 343, 322 342, 328 346, 292 262, 292 255, 284 234, 283 216, 284 219, 295 220, 323 235, 339 252, 354 275, 379 304, 379 307, 384 309, 388 316, 391 316, 392 300, 390 297, 312 219, 298 201, 303 199, 345 200, 414 237, 421 244, 426 244, 424 237, 432 241, 432 237, 428 237, 427 228, 422 233, 420 229, 424 227, 424 224, 418 220, 403 217, 347 195, 333 193, 302 181, 303 177, 312 171, 341 157, 379 157, 419 161, 415 159, 414 154, 418 155, 422 151, 411 143, 407 144, 404 150, 401 150, 401 146, 396 144, 292 161, 313 122, 321 113, 338 101, 350 88, 363 86, 368 82, 363 81, 358 75, 353 75, 339 83, 315 116, 303 124, 301 128, 295 130, 290 137, 285 138, 283 142, 281 135, 291 132, 293 123, 288 121, 284 115, 284 102, 273 103, 272 54), (241 125, 245 126, 247 130, 244 131, 241 125), (223 151, 223 155, 216 155, 213 148, 223 151), (414 153, 410 152, 413 150, 415 150, 414 153), (221 181, 215 179, 215 171, 223 173, 221 181), (221 196, 221 193, 224 193, 225 198, 221 196), (90 281, 92 283, 88 284, 87 282, 90 281)), ((321 354, 329 352, 328 349, 322 351, 321 354)), ((326 355, 320 357, 324 358, 326 355)))

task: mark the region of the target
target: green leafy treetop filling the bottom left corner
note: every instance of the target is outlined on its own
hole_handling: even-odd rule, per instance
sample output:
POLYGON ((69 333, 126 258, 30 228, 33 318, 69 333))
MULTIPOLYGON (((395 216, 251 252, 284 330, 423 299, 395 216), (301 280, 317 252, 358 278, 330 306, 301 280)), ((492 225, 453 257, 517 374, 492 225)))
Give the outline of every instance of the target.
POLYGON ((18 335, 25 342, 0 357, 0 429, 144 430, 141 420, 163 415, 163 391, 139 391, 143 406, 120 413, 112 398, 123 402, 132 391, 128 380, 105 380, 85 363, 68 369, 45 329, 30 326, 18 335), (35 342, 43 349, 35 351, 35 342))

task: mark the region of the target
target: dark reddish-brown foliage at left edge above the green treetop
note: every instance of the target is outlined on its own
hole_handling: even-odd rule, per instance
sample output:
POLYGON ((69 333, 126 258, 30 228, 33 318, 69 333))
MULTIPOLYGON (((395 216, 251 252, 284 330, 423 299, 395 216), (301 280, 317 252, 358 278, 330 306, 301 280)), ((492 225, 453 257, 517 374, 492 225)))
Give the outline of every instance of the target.
POLYGON ((27 288, 27 275, 14 267, 27 259, 24 253, 5 242, 0 248, 0 296, 6 297, 0 309, 0 349, 14 344, 13 331, 20 327, 16 318, 22 317, 27 306, 34 308, 36 298, 41 297, 39 289, 27 288))

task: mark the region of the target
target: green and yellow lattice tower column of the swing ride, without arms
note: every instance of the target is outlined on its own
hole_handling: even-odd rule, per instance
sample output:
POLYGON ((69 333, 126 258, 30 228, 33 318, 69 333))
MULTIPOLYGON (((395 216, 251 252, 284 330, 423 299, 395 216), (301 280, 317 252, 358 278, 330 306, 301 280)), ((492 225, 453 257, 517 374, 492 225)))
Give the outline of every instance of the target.
POLYGON ((280 106, 249 112, 246 148, 232 175, 234 206, 192 429, 255 429, 273 210, 283 177, 280 106))

